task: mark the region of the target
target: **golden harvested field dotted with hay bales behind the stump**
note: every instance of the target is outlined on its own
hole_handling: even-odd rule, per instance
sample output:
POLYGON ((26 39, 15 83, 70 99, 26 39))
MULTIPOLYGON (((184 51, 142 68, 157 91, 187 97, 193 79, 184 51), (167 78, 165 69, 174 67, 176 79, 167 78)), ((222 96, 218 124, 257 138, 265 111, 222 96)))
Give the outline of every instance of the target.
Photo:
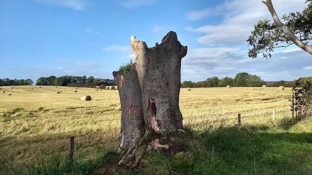
MULTIPOLYGON (((96 159, 117 147, 118 90, 78 88, 74 93, 71 87, 41 87, 1 87, 0 163, 18 167, 42 157, 66 156, 70 136, 75 136, 75 157, 96 159), (92 101, 80 101, 83 95, 92 101)), ((181 88, 180 110, 183 125, 195 130, 234 125, 238 113, 243 125, 270 127, 291 120, 291 97, 291 88, 181 88)))

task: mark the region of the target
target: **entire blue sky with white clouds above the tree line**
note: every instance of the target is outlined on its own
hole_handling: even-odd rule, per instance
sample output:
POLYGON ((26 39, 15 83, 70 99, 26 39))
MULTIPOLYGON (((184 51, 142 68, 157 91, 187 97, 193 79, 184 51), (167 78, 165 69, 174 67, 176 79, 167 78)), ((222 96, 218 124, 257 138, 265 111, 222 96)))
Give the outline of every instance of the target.
MULTIPOLYGON (((304 2, 273 5, 281 18, 302 11, 304 2)), ((265 81, 312 76, 312 56, 296 47, 248 58, 246 39, 265 18, 272 19, 261 0, 1 0, 0 78, 113 79, 120 64, 134 59, 131 35, 153 47, 169 31, 188 46, 181 81, 239 72, 265 81)))

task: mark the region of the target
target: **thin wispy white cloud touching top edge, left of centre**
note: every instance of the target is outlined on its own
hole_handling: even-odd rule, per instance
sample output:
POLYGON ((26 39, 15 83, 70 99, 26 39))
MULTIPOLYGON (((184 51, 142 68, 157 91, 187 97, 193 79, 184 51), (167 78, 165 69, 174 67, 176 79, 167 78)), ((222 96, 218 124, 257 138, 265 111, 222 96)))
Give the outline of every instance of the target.
POLYGON ((87 9, 88 3, 85 0, 34 0, 47 5, 61 6, 83 11, 87 9))

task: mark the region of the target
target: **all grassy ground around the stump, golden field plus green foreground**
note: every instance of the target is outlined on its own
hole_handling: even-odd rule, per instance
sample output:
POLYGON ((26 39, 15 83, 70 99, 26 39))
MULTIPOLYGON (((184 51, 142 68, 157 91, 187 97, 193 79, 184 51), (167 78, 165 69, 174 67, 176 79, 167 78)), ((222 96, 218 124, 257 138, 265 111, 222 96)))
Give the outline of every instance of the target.
MULTIPOLYGON (((101 167, 118 157, 117 90, 1 88, 0 174, 100 174, 101 167), (90 95, 92 101, 80 101, 82 95, 90 95), (69 136, 75 136, 72 163, 66 159, 69 136)), ((117 173, 312 174, 312 122, 287 124, 291 95, 291 88, 181 89, 184 137, 190 149, 179 157, 155 152, 139 172, 117 173), (235 125, 237 113, 242 115, 241 126, 235 125)))

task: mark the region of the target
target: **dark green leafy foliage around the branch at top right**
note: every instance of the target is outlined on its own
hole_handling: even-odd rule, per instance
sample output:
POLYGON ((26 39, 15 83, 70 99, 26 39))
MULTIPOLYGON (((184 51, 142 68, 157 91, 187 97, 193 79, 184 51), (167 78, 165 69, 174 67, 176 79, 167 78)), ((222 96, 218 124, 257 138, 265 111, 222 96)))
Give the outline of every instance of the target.
POLYGON ((262 54, 264 58, 271 58, 271 53, 274 49, 286 48, 293 44, 296 44, 301 49, 303 48, 300 45, 304 46, 307 50, 303 50, 312 54, 312 47, 307 45, 312 40, 312 0, 306 0, 308 5, 302 12, 285 14, 282 18, 286 21, 285 25, 276 18, 277 15, 273 6, 270 8, 269 2, 272 5, 271 0, 263 1, 268 6, 274 22, 270 23, 270 20, 264 19, 254 25, 254 31, 251 32, 252 35, 247 39, 248 44, 252 46, 248 56, 256 58, 257 55, 262 54), (293 38, 291 34, 294 36, 293 38))

